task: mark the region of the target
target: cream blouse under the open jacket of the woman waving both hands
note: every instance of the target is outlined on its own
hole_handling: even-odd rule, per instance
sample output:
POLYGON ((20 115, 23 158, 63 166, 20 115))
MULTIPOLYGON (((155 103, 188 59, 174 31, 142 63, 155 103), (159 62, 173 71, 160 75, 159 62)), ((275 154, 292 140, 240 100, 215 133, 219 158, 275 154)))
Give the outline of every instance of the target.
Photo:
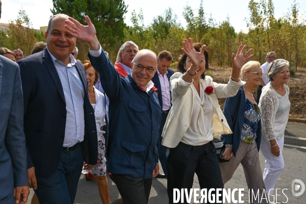
MULTIPOLYGON (((183 83, 187 83, 183 81, 183 83)), ((191 84, 194 93, 194 106, 192 109, 191 123, 184 133, 181 142, 187 145, 200 146, 214 139, 213 120, 214 108, 204 93, 200 80, 200 96, 194 84, 191 84)), ((205 87, 206 88, 206 87, 205 87)))

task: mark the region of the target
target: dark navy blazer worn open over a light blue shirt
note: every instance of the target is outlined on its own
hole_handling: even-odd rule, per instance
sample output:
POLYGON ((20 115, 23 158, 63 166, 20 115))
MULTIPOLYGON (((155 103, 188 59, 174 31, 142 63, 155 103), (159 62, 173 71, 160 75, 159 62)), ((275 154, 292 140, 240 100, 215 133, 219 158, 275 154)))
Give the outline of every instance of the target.
MULTIPOLYGON (((37 175, 52 175, 59 164, 64 143, 66 102, 63 87, 52 58, 42 52, 18 61, 24 102, 24 128, 28 148, 28 168, 35 166, 37 175)), ((84 95, 85 135, 81 143, 84 161, 98 161, 96 120, 89 102, 87 79, 83 64, 77 61, 84 95)))

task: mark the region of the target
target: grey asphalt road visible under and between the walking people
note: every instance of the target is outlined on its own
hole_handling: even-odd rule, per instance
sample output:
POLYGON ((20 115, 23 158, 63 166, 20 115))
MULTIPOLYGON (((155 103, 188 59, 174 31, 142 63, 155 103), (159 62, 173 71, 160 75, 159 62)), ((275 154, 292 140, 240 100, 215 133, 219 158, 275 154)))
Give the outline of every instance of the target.
MULTIPOLYGON (((306 124, 288 123, 286 132, 285 135, 305 138, 304 133, 306 132, 306 124)), ((285 160, 285 170, 281 175, 281 177, 278 179, 278 182, 276 183, 275 186, 275 189, 276 188, 281 189, 280 191, 278 191, 280 192, 279 193, 280 196, 277 196, 277 202, 290 203, 290 204, 291 203, 305 204, 306 191, 299 197, 293 196, 292 181, 294 179, 300 179, 306 185, 306 149, 293 148, 288 146, 286 147, 285 145, 283 156, 285 160), (288 189, 284 190, 285 195, 288 197, 288 201, 287 197, 283 193, 281 193, 283 189, 288 189)), ((260 153, 260 161, 261 161, 262 170, 264 170, 265 159, 261 153, 260 153)), ((109 184, 111 203, 120 204, 121 196, 115 184, 109 178, 108 178, 108 184, 109 184)), ((198 183, 198 178, 196 175, 194 178, 193 188, 200 188, 198 183)), ((248 188, 245 181, 243 168, 241 165, 234 173, 232 179, 227 184, 225 184, 225 188, 227 189, 244 188, 245 191, 244 191, 243 200, 245 203, 248 203, 248 190, 247 190, 248 188)), ((33 196, 33 190, 31 190, 30 199, 27 203, 31 203, 30 200, 32 196, 33 196)), ((238 196, 236 196, 236 199, 238 199, 238 196)), ((85 177, 81 175, 75 203, 84 203, 84 204, 102 203, 95 180, 91 180, 88 182, 85 180, 85 177)), ((149 203, 150 204, 168 203, 167 179, 153 178, 149 203)), ((194 203, 193 199, 191 203, 194 203)))

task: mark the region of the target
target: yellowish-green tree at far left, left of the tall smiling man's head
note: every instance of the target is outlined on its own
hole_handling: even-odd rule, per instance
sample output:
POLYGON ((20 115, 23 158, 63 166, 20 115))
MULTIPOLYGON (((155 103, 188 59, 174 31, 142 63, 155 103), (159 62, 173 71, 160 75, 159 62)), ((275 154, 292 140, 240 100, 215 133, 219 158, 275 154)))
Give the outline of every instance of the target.
POLYGON ((25 10, 19 10, 17 19, 11 20, 8 35, 14 40, 14 47, 21 48, 25 55, 30 55, 35 43, 35 34, 32 22, 25 10))

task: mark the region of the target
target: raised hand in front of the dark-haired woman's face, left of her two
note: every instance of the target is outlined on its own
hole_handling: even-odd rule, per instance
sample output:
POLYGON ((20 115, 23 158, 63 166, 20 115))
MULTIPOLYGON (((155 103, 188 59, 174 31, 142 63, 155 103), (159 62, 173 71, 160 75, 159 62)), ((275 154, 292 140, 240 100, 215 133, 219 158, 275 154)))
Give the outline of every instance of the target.
POLYGON ((184 39, 183 45, 182 51, 191 59, 194 66, 198 66, 204 56, 206 46, 203 45, 201 52, 197 52, 191 38, 189 38, 189 42, 187 39, 184 39))

